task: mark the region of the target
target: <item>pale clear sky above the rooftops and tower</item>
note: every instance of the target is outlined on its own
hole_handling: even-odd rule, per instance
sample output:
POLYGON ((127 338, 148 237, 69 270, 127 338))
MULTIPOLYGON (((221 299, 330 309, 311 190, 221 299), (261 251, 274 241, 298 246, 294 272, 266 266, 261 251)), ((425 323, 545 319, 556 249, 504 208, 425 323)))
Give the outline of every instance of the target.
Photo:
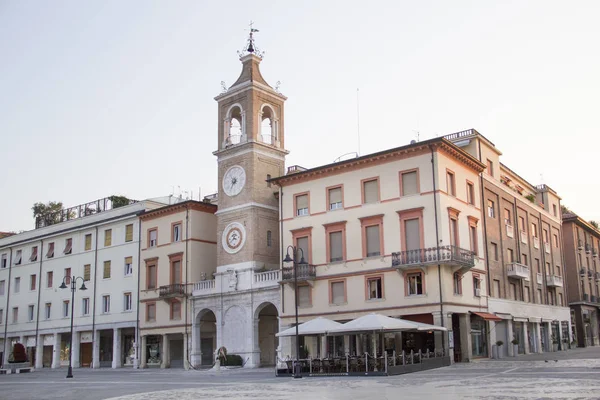
POLYGON ((598 1, 0 1, 0 231, 31 206, 215 192, 249 20, 287 165, 475 128, 600 220, 598 1), (320 151, 315 151, 320 149, 320 151))

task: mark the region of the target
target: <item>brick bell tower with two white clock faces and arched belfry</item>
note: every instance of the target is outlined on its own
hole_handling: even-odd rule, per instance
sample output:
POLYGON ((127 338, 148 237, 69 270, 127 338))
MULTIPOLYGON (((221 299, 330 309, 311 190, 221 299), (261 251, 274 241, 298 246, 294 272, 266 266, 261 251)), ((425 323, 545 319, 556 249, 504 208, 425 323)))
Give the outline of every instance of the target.
MULTIPOLYGON (((260 73, 263 53, 250 35, 242 72, 218 103, 217 272, 278 268, 279 203, 267 180, 284 174, 285 96, 260 73)), ((234 281, 235 282, 235 281, 234 281)), ((235 290, 235 288, 233 289, 235 290)))

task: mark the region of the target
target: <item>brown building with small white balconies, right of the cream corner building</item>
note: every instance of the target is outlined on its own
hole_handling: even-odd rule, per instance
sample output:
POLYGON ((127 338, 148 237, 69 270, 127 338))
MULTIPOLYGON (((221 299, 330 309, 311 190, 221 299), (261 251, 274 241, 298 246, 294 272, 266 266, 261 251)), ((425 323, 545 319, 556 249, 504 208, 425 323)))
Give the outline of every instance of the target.
POLYGON ((501 152, 474 129, 446 136, 486 165, 480 174, 490 342, 504 355, 552 351, 570 344, 564 285, 560 197, 533 186, 500 162, 501 152))

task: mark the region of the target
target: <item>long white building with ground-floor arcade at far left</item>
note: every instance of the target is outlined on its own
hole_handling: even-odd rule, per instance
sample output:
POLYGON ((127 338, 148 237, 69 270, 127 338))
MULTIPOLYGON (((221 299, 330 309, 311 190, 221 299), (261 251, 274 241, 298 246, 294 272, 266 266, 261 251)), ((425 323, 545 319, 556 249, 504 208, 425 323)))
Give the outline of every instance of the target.
POLYGON ((110 198, 62 210, 56 223, 0 239, 3 362, 16 342, 36 368, 133 366, 138 305, 137 214, 161 204, 116 207, 110 198), (60 289, 77 280, 71 290, 60 289), (87 290, 79 290, 85 285, 87 290), (74 331, 70 343, 71 306, 74 331))

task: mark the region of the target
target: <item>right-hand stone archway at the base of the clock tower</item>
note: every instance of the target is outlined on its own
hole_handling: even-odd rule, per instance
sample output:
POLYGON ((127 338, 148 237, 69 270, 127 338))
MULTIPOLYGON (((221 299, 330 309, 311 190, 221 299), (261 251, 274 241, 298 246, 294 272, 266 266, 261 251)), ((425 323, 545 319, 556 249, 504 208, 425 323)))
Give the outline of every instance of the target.
POLYGON ((270 302, 261 304, 255 312, 256 324, 255 337, 260 351, 260 366, 275 365, 279 338, 275 334, 279 331, 279 312, 277 307, 270 302))

